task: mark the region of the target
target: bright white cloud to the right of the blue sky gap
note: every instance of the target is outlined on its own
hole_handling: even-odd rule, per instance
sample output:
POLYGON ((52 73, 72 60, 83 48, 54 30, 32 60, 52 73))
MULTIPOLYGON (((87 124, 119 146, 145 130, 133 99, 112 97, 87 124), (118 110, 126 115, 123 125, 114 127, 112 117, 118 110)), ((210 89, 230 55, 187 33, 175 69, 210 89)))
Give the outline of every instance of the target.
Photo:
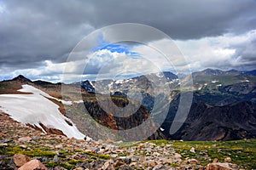
MULTIPOLYGON (((162 70, 169 69, 177 72, 199 71, 208 67, 218 69, 249 70, 250 63, 255 65, 253 41, 256 40, 256 31, 248 31, 241 35, 224 34, 218 37, 204 37, 201 39, 175 41, 162 39, 149 42, 148 47, 160 48, 171 62, 165 62, 165 57, 154 48, 139 45, 133 50, 142 56, 154 60, 162 70), (178 50, 180 49, 180 52, 178 50), (254 54, 254 55, 253 55, 254 54), (250 58, 249 58, 250 57, 250 58), (254 60, 254 62, 252 62, 254 60)), ((253 68, 253 67, 252 67, 253 68)))

